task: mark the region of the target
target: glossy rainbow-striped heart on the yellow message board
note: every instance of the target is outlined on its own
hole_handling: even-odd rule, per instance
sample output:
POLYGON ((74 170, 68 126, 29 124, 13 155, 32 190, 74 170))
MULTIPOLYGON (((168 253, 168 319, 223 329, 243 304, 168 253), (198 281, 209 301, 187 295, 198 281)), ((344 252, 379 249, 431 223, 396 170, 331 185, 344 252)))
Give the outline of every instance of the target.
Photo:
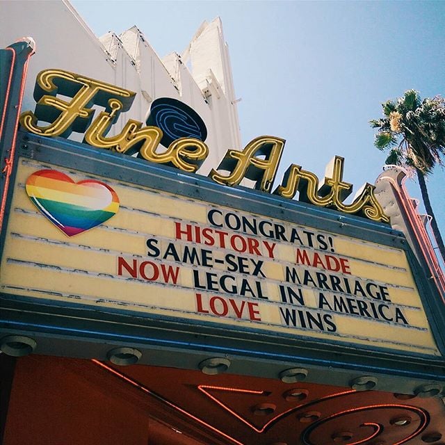
POLYGON ((119 209, 119 197, 103 182, 74 182, 57 170, 39 170, 26 181, 26 193, 51 223, 67 236, 97 227, 119 209))

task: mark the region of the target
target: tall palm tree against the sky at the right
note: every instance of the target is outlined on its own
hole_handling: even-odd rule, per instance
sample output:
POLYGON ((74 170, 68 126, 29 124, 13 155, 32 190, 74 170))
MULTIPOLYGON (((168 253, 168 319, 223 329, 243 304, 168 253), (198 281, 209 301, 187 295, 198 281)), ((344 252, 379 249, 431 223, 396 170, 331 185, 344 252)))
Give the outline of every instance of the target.
POLYGON ((442 97, 421 100, 419 92, 408 90, 396 101, 382 104, 384 117, 371 120, 378 129, 374 145, 389 149, 387 164, 403 165, 416 172, 423 204, 432 218, 431 227, 437 247, 445 261, 445 247, 432 212, 425 178, 435 165, 442 165, 445 154, 445 101, 442 97))

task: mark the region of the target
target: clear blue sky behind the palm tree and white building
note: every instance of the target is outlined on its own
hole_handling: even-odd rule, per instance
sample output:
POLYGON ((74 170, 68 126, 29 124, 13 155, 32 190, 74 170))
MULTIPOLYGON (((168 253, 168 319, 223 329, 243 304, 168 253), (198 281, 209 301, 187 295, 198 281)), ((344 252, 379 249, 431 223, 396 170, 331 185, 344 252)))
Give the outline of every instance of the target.
MULTIPOLYGON (((159 54, 181 53, 204 20, 221 17, 241 137, 286 139, 277 181, 291 163, 323 177, 334 155, 357 191, 386 156, 369 120, 381 103, 419 90, 445 95, 443 1, 72 1, 96 35, 136 24, 159 54)), ((445 234, 445 172, 428 179, 445 234)), ((415 180, 413 197, 420 197, 415 180)))

